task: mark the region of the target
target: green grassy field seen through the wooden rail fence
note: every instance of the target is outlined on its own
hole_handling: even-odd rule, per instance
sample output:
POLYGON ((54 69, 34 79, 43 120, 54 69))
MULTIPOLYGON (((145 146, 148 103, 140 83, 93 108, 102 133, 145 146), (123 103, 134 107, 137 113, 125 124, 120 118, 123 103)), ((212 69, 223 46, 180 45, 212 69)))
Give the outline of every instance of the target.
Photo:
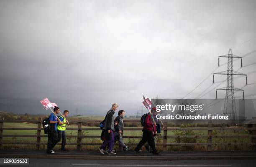
MULTIPOLYGON (((3 127, 20 127, 20 128, 31 128, 37 127, 37 124, 33 123, 7 123, 5 122, 3 127)), ((77 125, 67 125, 67 127, 77 128, 77 125)), ((82 126, 82 128, 86 128, 89 126, 82 126)), ((97 128, 97 127, 90 127, 90 128, 97 128)), ((138 127, 141 129, 141 127, 138 127)), ((42 135, 44 135, 44 131, 41 131, 42 135)), ((176 131, 176 130, 168 130, 167 135, 207 135, 207 130, 192 130, 192 131, 176 131)), ((83 135, 99 135, 101 134, 101 130, 89 130, 89 131, 82 131, 83 135)), ((233 130, 225 130, 224 132, 219 132, 217 130, 213 130, 212 135, 233 135, 233 130)), ((238 130, 236 135, 248 135, 245 130, 238 130)), ((3 135, 36 135, 36 130, 3 130, 3 135)), ((77 130, 67 130, 66 135, 77 135, 77 130)), ((163 131, 161 132, 163 135, 163 131)), ((124 130, 124 136, 142 136, 141 130, 124 130)), ((158 143, 163 142, 163 137, 159 137, 158 143)), ((140 138, 138 139, 128 139, 125 138, 125 143, 129 145, 129 143, 138 143, 140 138)), ((36 137, 3 137, 4 142, 36 142, 36 137)), ((175 138, 167 138, 167 143, 176 143, 178 140, 175 138)), ((47 142, 47 137, 42 137, 41 142, 47 142)), ((70 138, 67 137, 67 143, 76 143, 77 138, 70 138)), ((101 143, 102 141, 100 138, 83 138, 82 143, 101 143)), ((193 138, 193 139, 184 139, 179 142, 185 143, 207 143, 207 138, 193 138)), ((251 137, 228 137, 228 138, 212 138, 212 143, 250 143, 251 137)), ((60 147, 59 145, 56 146, 57 148, 60 147)), ((99 146, 83 146, 83 149, 86 150, 94 150, 97 149, 99 146)), ((207 146, 168 146, 168 150, 206 150, 207 146)), ((3 148, 26 148, 26 149, 35 149, 35 145, 3 145, 3 148)), ((42 149, 45 149, 45 145, 41 145, 42 149)), ((69 149, 76 149, 76 146, 69 145, 67 146, 69 149)), ((212 150, 250 150, 250 146, 213 146, 212 150)), ((161 146, 159 146, 159 150, 161 150, 161 146)))

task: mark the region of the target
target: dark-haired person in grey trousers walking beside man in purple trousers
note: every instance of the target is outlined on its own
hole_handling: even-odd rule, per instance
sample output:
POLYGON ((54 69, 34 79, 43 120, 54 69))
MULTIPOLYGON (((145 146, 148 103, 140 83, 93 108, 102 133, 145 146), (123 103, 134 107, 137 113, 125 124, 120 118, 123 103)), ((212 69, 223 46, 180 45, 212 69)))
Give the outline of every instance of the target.
POLYGON ((115 125, 115 138, 117 139, 118 143, 123 147, 123 151, 127 152, 131 150, 131 147, 127 147, 125 143, 123 142, 122 132, 123 132, 123 116, 125 115, 124 110, 118 111, 118 116, 115 118, 115 122, 117 122, 117 125, 115 125))

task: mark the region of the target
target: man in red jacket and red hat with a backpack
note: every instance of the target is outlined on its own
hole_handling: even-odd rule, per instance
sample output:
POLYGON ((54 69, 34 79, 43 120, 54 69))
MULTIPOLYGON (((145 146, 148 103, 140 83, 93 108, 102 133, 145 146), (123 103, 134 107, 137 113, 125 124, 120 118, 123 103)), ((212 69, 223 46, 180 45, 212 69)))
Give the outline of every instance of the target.
POLYGON ((154 134, 156 134, 156 125, 154 123, 154 118, 150 112, 148 112, 148 114, 146 115, 145 124, 143 126, 142 132, 143 132, 142 140, 138 143, 137 147, 134 149, 133 152, 135 152, 136 154, 139 154, 140 148, 146 142, 148 142, 148 145, 152 147, 153 154, 158 155, 159 152, 157 152, 155 142, 154 142, 154 134))

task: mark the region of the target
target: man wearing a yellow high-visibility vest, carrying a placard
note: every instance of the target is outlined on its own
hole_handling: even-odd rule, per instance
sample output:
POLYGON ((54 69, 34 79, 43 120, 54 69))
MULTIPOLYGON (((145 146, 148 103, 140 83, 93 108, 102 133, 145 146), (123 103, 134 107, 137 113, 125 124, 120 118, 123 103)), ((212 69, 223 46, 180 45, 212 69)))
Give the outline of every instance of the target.
POLYGON ((59 137, 59 141, 62 138, 62 142, 61 142, 61 151, 68 151, 67 149, 65 149, 65 145, 66 145, 66 125, 67 125, 67 120, 66 117, 69 115, 69 111, 68 110, 64 110, 63 112, 63 116, 59 117, 59 120, 61 120, 61 122, 63 122, 63 124, 59 124, 57 126, 57 132, 58 132, 58 137, 59 137))

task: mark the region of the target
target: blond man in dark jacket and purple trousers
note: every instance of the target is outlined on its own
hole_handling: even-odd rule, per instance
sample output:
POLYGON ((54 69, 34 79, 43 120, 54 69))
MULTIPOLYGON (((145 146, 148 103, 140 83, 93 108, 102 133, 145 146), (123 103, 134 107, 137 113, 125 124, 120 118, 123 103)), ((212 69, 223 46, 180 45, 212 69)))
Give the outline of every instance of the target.
POLYGON ((112 108, 107 112, 105 116, 105 120, 102 127, 102 133, 100 139, 103 140, 103 144, 100 147, 100 152, 104 154, 104 148, 108 145, 108 154, 115 155, 116 153, 113 152, 114 146, 114 130, 115 130, 115 123, 114 123, 114 114, 115 110, 117 109, 118 105, 113 104, 112 108))

